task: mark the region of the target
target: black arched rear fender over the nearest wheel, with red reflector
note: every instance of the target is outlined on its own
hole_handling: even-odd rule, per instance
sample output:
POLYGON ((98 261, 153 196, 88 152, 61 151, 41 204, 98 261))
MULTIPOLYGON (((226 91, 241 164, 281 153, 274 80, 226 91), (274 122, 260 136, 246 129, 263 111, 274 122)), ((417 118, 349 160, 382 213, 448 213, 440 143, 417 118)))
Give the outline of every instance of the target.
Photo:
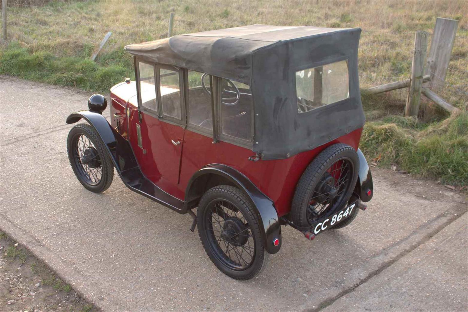
POLYGON ((193 174, 189 184, 187 185, 185 191, 186 202, 191 199, 190 194, 193 193, 193 190, 200 187, 200 185, 197 185, 200 181, 199 178, 206 174, 216 174, 228 179, 237 188, 241 189, 247 196, 249 196, 260 217, 259 221, 266 250, 270 254, 276 254, 281 248, 282 239, 281 226, 279 224, 278 213, 275 205, 273 201, 263 194, 252 181, 234 168, 221 164, 211 164, 198 170, 193 174), (278 246, 273 245, 273 241, 275 239, 279 240, 278 246))

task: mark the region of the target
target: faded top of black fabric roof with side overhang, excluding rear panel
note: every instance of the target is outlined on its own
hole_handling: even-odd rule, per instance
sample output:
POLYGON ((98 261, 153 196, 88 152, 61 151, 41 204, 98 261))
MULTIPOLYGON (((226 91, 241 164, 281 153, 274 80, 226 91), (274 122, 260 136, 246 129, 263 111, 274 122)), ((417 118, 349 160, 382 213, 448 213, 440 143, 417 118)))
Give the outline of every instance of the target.
POLYGON ((129 44, 125 50, 157 63, 171 64, 250 85, 252 55, 279 41, 348 29, 249 25, 209 30, 129 44))

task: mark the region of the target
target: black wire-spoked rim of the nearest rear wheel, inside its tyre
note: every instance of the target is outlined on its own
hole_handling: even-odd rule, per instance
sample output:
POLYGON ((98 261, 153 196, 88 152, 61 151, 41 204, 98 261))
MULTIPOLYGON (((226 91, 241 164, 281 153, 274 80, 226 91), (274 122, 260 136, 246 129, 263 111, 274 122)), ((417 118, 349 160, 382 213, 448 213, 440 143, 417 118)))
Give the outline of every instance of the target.
POLYGON ((217 257, 231 268, 248 268, 255 257, 255 240, 247 219, 227 200, 215 200, 209 209, 207 234, 217 257))

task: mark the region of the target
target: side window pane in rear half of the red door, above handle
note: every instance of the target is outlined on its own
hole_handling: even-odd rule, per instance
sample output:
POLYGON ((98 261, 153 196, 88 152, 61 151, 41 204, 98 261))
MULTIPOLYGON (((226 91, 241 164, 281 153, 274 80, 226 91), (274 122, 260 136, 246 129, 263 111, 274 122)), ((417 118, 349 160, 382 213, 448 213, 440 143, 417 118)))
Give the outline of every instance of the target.
POLYGON ((181 119, 181 96, 179 72, 176 70, 159 69, 162 114, 181 119))

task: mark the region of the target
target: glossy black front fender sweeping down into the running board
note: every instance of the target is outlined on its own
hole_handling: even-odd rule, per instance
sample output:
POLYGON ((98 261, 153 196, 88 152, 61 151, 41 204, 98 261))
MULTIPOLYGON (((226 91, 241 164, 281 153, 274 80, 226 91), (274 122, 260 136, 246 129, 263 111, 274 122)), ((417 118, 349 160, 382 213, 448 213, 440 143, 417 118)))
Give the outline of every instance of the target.
POLYGON ((138 166, 130 143, 112 128, 104 116, 82 110, 68 116, 66 123, 76 123, 81 118, 88 121, 99 133, 120 178, 129 189, 179 213, 187 212, 183 201, 164 192, 145 177, 138 166))

